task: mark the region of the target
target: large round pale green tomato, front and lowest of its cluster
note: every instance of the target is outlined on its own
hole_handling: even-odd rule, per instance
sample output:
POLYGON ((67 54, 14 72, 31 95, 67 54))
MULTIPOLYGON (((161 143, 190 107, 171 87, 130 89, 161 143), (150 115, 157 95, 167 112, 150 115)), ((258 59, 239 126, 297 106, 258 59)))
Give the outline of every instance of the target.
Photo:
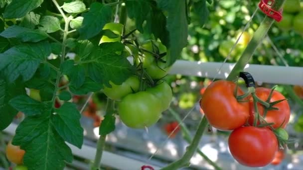
POLYGON ((131 128, 150 127, 161 116, 160 103, 156 96, 147 91, 129 94, 118 104, 120 119, 131 128))

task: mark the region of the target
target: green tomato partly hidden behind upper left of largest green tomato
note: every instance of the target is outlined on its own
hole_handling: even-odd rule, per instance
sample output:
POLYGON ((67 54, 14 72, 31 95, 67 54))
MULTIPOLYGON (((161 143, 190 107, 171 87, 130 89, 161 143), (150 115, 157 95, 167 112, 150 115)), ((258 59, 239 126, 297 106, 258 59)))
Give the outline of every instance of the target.
POLYGON ((104 94, 113 100, 121 100, 126 95, 132 93, 133 90, 134 92, 139 90, 140 80, 137 76, 131 76, 121 85, 115 85, 112 82, 110 82, 110 85, 112 85, 112 87, 104 86, 104 94))

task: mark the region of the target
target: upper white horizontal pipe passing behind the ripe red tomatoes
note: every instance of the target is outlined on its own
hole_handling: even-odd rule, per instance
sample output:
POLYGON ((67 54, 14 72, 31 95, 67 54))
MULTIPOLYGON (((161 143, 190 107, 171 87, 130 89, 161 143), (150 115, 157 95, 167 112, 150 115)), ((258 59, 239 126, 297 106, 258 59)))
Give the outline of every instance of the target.
MULTIPOLYGON (((169 74, 225 79, 235 66, 235 63, 225 63, 218 73, 221 66, 222 63, 177 60, 172 65, 169 74)), ((303 85, 303 67, 247 64, 244 70, 249 72, 256 82, 278 85, 303 85)))

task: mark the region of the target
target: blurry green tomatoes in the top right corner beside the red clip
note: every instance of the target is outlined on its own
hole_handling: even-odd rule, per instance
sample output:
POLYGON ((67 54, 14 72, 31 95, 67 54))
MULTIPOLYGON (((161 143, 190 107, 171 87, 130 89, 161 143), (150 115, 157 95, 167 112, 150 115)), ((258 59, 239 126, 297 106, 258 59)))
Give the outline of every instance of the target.
POLYGON ((286 0, 283 7, 283 19, 276 22, 276 25, 288 31, 294 29, 303 35, 303 8, 300 6, 300 0, 286 0))

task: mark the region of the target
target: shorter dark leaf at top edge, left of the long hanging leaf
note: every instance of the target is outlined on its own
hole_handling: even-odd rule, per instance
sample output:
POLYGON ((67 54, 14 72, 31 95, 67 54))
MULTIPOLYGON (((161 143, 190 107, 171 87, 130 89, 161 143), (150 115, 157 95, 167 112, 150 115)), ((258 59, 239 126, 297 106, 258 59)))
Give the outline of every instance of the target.
POLYGON ((152 10, 150 0, 128 0, 125 3, 128 16, 132 19, 136 19, 136 27, 143 33, 143 22, 147 19, 147 16, 152 10))

